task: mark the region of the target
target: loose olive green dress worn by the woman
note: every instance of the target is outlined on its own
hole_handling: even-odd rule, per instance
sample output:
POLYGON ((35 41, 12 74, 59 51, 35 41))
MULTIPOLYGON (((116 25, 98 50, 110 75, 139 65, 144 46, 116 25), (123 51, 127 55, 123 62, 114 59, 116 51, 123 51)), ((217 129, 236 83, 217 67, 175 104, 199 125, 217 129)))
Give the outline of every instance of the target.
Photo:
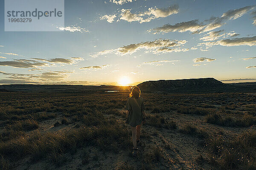
POLYGON ((128 124, 135 127, 137 125, 141 125, 143 121, 143 114, 144 111, 144 100, 143 98, 134 98, 130 97, 126 103, 126 110, 128 110, 128 124))

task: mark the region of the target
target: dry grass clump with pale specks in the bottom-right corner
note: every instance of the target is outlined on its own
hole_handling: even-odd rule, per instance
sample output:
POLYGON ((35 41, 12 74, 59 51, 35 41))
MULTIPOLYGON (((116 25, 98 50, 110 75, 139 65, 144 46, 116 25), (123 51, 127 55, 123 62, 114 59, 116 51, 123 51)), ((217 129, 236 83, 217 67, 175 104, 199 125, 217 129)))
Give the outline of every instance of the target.
POLYGON ((221 170, 256 168, 255 131, 241 133, 230 141, 213 136, 209 138, 207 144, 221 170))

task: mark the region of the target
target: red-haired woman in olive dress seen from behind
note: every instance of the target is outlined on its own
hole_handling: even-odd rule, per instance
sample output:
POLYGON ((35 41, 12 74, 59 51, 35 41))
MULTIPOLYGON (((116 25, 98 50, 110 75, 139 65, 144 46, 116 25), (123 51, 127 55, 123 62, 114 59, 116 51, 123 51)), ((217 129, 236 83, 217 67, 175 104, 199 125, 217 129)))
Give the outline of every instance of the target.
POLYGON ((131 125, 133 152, 137 155, 137 145, 140 144, 140 127, 145 123, 144 101, 140 97, 140 88, 135 86, 127 100, 126 104, 127 119, 126 122, 131 125))

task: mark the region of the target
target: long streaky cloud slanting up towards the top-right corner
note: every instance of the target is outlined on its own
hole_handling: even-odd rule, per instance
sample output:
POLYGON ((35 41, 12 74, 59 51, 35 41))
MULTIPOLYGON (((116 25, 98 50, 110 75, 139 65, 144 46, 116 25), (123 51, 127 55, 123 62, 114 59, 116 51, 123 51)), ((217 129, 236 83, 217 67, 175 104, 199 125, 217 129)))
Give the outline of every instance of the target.
POLYGON ((191 20, 181 23, 176 23, 175 25, 166 24, 161 27, 153 28, 148 30, 148 32, 153 32, 153 34, 168 33, 168 32, 186 32, 190 31, 192 33, 200 34, 203 32, 214 30, 225 24, 227 20, 236 20, 248 11, 255 8, 255 6, 246 6, 239 9, 234 9, 225 12, 221 17, 211 17, 209 20, 204 20, 204 22, 199 22, 198 20, 191 20))

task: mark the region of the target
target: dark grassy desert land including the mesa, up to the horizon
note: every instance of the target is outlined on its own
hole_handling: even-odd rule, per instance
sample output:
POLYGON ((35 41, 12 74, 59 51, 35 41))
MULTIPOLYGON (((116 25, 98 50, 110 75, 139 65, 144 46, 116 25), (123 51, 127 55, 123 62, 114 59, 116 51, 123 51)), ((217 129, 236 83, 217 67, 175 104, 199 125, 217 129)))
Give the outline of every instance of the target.
POLYGON ((256 169, 255 82, 138 87, 147 119, 134 157, 131 86, 0 85, 0 169, 256 169))

